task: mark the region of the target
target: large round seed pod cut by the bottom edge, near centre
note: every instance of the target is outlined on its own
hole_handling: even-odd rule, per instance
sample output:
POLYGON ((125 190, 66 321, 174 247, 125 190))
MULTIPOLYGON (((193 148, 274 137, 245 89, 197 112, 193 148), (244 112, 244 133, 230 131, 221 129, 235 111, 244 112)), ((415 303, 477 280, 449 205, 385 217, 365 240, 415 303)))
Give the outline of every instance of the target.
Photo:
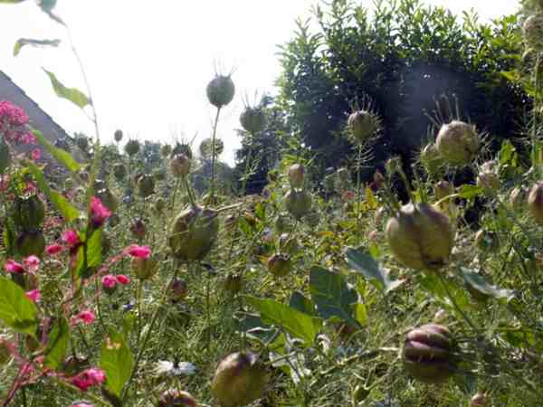
POLYGON ((217 366, 211 390, 223 407, 247 405, 262 397, 268 374, 258 356, 237 352, 217 366))

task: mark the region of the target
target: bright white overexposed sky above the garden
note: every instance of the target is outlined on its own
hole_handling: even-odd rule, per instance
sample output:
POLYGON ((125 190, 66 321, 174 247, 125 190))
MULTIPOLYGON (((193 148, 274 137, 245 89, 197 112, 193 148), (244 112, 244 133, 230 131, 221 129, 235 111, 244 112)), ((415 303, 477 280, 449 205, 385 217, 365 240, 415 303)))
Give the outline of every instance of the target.
MULTIPOLYGON (((127 137, 195 147, 212 133, 214 107, 205 96, 215 71, 230 73, 236 94, 222 111, 217 131, 224 140, 221 159, 233 164, 240 146, 235 132, 244 103, 275 93, 281 72, 277 44, 292 38, 295 20, 310 17, 316 0, 58 0, 55 13, 71 37, 90 81, 102 142, 117 128, 127 137)), ((372 2, 364 0, 363 5, 372 2)), ((482 19, 517 11, 516 0, 426 0, 453 12, 474 8, 482 19)), ((58 99, 42 68, 68 87, 87 91, 66 30, 27 0, 0 5, 0 70, 70 134, 94 136, 81 109, 58 99), (58 48, 24 47, 19 38, 61 39, 58 48)), ((1 95, 0 95, 1 99, 1 95)))

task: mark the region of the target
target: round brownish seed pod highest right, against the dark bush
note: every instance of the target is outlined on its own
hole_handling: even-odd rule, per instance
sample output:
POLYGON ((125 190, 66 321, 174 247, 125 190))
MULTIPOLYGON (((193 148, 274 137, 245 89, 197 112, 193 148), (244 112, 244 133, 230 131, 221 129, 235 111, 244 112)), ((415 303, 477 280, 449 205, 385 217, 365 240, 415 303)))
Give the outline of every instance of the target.
POLYGON ((452 120, 439 130, 435 145, 447 163, 452 166, 466 166, 477 156, 479 135, 472 125, 452 120))

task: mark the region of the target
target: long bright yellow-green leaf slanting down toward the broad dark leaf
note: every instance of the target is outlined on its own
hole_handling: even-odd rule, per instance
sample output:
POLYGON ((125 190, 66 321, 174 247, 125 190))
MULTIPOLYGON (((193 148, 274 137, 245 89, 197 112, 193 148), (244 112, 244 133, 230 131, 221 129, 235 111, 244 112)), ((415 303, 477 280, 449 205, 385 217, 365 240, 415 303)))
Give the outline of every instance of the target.
POLYGON ((245 297, 247 302, 261 313, 262 322, 284 328, 292 336, 312 345, 322 326, 322 319, 311 317, 272 299, 245 297))

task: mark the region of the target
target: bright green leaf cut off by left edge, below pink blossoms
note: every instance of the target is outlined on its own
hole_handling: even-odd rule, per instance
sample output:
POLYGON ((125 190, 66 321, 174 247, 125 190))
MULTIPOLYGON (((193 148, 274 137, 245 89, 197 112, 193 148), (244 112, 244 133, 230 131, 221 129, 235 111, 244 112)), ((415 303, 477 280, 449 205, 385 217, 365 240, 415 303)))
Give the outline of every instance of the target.
POLYGON ((0 319, 14 331, 37 338, 38 309, 24 289, 5 277, 0 277, 0 319))

